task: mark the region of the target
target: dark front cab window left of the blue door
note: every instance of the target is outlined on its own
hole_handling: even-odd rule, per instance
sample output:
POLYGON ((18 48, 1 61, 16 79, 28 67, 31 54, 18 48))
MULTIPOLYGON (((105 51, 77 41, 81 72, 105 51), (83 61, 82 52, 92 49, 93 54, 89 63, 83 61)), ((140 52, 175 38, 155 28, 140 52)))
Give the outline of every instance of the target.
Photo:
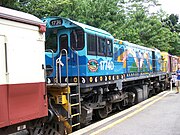
POLYGON ((57 35, 50 34, 46 37, 45 48, 53 50, 53 52, 57 51, 57 35))

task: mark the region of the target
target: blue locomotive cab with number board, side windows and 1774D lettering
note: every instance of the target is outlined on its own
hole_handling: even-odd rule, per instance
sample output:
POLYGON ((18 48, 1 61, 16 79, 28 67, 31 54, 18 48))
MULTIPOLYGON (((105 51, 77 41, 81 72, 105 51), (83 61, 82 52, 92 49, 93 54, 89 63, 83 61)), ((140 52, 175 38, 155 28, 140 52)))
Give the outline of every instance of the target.
POLYGON ((104 75, 114 74, 111 34, 70 19, 43 20, 47 26, 48 83, 77 83, 79 77, 81 87, 86 88, 98 80, 105 80, 104 75))

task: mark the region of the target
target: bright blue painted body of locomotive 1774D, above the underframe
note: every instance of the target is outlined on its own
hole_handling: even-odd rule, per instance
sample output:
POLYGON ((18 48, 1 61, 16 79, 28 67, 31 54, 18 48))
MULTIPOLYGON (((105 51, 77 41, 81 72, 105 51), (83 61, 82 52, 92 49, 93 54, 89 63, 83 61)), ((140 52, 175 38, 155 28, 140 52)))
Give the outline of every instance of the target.
MULTIPOLYGON (((47 18, 46 22, 46 49, 51 50, 46 52, 50 82, 56 77, 53 63, 63 49, 67 50, 69 82, 77 82, 79 67, 82 88, 160 71, 161 55, 157 49, 116 40, 104 30, 65 18, 47 18)), ((60 62, 61 81, 66 82, 65 52, 60 62)))

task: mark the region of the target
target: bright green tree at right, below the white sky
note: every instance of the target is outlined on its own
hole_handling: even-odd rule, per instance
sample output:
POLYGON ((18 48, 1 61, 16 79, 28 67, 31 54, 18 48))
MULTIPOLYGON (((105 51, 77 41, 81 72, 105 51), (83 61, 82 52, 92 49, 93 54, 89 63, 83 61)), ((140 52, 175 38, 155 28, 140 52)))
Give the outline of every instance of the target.
MULTIPOLYGON (((121 38, 178 55, 178 51, 175 49, 179 43, 177 33, 174 33, 169 27, 163 27, 163 23, 160 21, 160 18, 166 14, 162 11, 151 14, 148 11, 151 4, 158 6, 158 1, 130 0, 125 4, 127 18, 126 23, 121 27, 123 29, 119 35, 121 38)), ((178 17, 170 16, 170 19, 176 26, 178 17)))

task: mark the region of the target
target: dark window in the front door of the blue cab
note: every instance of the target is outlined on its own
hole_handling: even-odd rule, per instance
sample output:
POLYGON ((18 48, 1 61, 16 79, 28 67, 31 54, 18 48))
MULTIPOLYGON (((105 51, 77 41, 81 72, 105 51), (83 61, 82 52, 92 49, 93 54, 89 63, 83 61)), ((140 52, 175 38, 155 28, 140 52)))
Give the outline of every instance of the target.
POLYGON ((59 37, 60 50, 66 49, 68 51, 68 35, 64 34, 59 37))

